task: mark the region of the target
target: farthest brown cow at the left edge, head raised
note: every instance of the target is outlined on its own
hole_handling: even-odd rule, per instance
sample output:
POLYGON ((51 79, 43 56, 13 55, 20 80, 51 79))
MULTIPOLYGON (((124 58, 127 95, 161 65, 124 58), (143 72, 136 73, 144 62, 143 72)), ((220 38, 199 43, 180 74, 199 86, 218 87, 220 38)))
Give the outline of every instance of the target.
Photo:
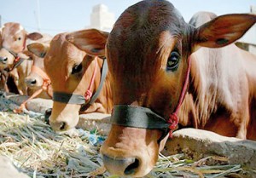
POLYGON ((24 80, 32 67, 32 61, 26 60, 28 56, 22 52, 26 49, 27 42, 40 37, 39 33, 27 34, 19 23, 9 22, 2 27, 0 68, 9 71, 9 76, 14 78, 20 95, 27 94, 24 80))

